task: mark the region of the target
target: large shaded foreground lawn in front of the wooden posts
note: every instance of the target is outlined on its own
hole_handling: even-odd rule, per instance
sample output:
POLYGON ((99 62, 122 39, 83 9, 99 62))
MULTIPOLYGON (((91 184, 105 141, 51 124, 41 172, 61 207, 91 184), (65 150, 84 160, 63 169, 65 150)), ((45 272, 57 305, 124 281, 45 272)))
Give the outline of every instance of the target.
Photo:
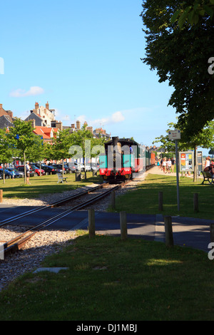
POLYGON ((0 294, 0 320, 213 320, 214 263, 205 252, 106 235, 76 238, 0 294))

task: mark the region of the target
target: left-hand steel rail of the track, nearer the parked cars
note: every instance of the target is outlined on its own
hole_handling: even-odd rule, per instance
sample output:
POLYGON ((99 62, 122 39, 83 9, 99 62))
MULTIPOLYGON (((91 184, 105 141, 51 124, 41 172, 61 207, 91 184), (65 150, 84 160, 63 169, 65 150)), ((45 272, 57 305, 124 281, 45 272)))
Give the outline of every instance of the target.
POLYGON ((49 207, 51 207, 51 208, 52 207, 57 207, 58 205, 61 205, 63 202, 68 202, 70 200, 77 199, 78 197, 81 197, 82 195, 86 195, 86 194, 88 194, 90 192, 94 192, 94 191, 98 190, 99 188, 104 187, 106 185, 108 185, 108 183, 103 183, 101 185, 98 185, 96 187, 91 188, 91 190, 86 190, 86 191, 79 192, 77 195, 71 195, 71 197, 66 197, 66 198, 64 198, 62 200, 53 202, 50 205, 42 206, 42 207, 39 207, 39 208, 34 208, 33 210, 28 210, 28 211, 26 211, 24 213, 15 215, 14 217, 9 217, 9 219, 6 219, 6 220, 3 220, 3 221, 0 222, 0 227, 3 227, 4 225, 8 225, 10 222, 14 222, 16 220, 19 220, 22 217, 26 217, 28 215, 34 214, 36 212, 39 212, 41 210, 46 210, 49 207))

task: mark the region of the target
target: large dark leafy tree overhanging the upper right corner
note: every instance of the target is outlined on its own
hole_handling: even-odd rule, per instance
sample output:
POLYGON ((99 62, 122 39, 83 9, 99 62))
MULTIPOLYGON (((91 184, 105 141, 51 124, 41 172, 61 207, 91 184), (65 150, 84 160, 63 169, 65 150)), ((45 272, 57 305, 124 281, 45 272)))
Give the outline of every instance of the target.
MULTIPOLYGON (((186 6, 193 4, 187 0, 186 6)), ((178 0, 145 0, 141 17, 146 26, 146 57, 142 61, 156 70, 159 82, 168 81, 170 96, 179 122, 191 138, 214 117, 214 76, 208 73, 213 56, 213 21, 200 16, 198 24, 183 26, 172 22, 178 0)))

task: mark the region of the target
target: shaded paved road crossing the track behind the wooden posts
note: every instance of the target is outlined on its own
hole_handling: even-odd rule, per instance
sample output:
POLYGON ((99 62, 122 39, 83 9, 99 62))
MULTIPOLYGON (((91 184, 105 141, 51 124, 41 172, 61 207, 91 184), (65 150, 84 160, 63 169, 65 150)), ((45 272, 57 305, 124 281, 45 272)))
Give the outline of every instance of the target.
MULTIPOLYGON (((0 220, 6 220, 21 212, 31 210, 32 207, 11 207, 0 204, 0 220)), ((18 225, 34 226, 36 223, 46 220, 51 215, 63 212, 58 208, 52 208, 37 212, 34 217, 25 217, 18 225)), ((96 232, 101 234, 120 234, 119 213, 96 212, 96 232)), ((210 223, 212 220, 199 220, 187 217, 172 217, 174 243, 181 246, 193 247, 208 252, 210 243, 210 223)), ((127 215, 128 236, 164 242, 164 223, 162 215, 127 215)), ((69 214, 63 219, 54 222, 50 229, 61 230, 87 230, 88 212, 77 211, 69 214)))

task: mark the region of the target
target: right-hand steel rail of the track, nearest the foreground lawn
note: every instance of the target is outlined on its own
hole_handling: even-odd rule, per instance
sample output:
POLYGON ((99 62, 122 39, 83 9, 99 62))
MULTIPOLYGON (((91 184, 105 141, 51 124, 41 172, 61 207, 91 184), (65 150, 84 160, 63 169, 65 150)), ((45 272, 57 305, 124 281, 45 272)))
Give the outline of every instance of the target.
POLYGON ((21 247, 24 246, 24 244, 34 236, 37 232, 40 230, 45 229, 46 227, 49 227, 49 225, 53 225, 54 222, 60 220, 63 217, 66 217, 67 215, 71 214, 71 212, 75 212, 76 210, 80 210, 83 207, 86 207, 88 205, 91 205, 93 202, 96 202, 98 200, 101 200, 103 197, 106 197, 109 195, 109 193, 113 192, 113 190, 117 190, 121 185, 117 185, 110 190, 107 190, 101 195, 96 195, 92 199, 86 200, 85 202, 81 203, 80 205, 76 205, 68 210, 65 210, 63 213, 59 213, 57 215, 54 215, 54 217, 50 217, 49 219, 40 222, 38 225, 32 227, 30 230, 27 230, 26 232, 20 234, 19 236, 15 237, 14 239, 11 239, 9 242, 4 243, 4 254, 8 254, 9 252, 15 252, 21 247), (32 232, 33 230, 36 230, 32 232), (27 237, 26 234, 30 233, 27 237))

